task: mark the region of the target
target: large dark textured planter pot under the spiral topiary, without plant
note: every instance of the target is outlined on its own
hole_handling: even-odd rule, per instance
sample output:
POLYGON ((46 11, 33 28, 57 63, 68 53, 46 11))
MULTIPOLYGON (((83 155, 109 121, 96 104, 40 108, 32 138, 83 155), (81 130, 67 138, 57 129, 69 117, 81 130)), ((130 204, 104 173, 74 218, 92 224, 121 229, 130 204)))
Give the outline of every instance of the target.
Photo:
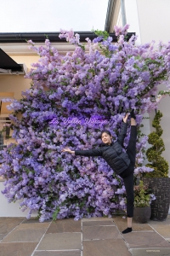
POLYGON ((152 193, 156 195, 156 200, 150 204, 150 219, 165 220, 170 205, 170 177, 143 177, 142 180, 145 185, 149 185, 152 193))

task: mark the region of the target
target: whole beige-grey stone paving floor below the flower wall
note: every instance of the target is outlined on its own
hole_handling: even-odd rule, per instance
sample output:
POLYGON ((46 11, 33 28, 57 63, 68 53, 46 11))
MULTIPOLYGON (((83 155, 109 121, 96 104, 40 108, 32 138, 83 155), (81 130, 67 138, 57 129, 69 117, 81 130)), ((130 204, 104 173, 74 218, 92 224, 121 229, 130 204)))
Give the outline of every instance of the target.
POLYGON ((0 218, 0 256, 170 256, 170 216, 163 222, 67 218, 39 223, 31 218, 0 218))

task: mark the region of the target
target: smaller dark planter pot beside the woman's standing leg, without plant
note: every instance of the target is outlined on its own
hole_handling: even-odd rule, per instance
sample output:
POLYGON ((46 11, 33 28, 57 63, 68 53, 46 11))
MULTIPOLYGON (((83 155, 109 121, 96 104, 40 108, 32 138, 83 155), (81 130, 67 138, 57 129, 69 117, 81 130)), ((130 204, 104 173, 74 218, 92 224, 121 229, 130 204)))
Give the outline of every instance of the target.
POLYGON ((150 219, 151 208, 150 207, 134 207, 133 220, 139 223, 147 223, 150 219))

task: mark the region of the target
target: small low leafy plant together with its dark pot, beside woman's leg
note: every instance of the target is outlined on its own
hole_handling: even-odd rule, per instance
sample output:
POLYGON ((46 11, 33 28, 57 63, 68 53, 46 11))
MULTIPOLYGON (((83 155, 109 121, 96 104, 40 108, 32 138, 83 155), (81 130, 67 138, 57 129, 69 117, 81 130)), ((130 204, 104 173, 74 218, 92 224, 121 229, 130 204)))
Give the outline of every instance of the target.
POLYGON ((150 203, 155 200, 155 196, 150 194, 149 186, 139 181, 138 186, 134 186, 134 211, 133 220, 139 223, 147 223, 150 219, 150 203))

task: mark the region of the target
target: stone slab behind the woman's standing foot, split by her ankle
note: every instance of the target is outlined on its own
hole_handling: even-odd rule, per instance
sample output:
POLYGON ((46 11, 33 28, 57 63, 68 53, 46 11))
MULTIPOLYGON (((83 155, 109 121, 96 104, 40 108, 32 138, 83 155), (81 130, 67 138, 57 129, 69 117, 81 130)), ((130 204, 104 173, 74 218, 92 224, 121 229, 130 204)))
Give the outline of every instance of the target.
MULTIPOLYGON (((117 217, 113 218, 113 221, 117 225, 117 228, 122 232, 122 230, 127 229, 127 218, 117 217)), ((133 221, 133 231, 154 231, 149 224, 140 224, 133 221)))

